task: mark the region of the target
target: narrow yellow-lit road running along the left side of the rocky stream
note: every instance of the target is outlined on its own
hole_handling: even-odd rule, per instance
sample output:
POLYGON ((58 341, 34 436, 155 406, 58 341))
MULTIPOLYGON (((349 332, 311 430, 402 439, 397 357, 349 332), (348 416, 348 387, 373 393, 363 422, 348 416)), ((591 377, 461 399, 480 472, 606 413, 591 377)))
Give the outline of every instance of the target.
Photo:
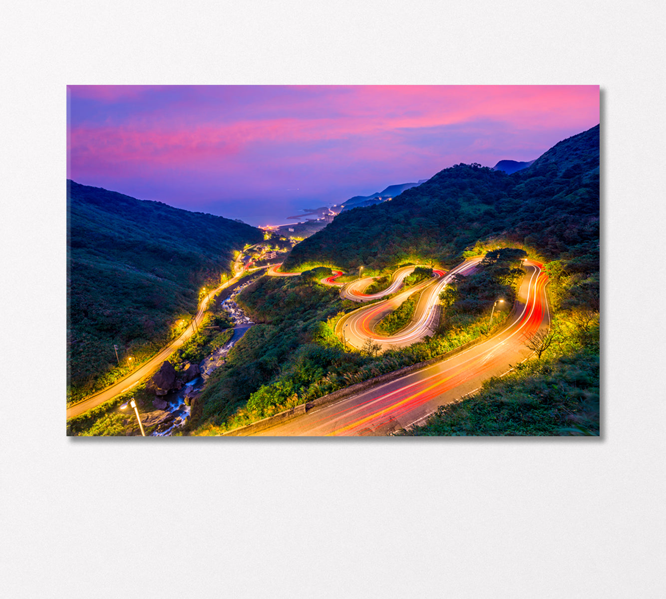
MULTIPOLYGON (((215 294, 217 294, 224 288, 227 288, 228 286, 235 284, 236 282, 238 282, 238 280, 239 278, 238 276, 236 276, 228 280, 228 282, 220 285, 216 290, 204 296, 204 298, 201 300, 201 303, 199 304, 198 310, 196 311, 196 315, 194 316, 194 320, 196 321, 197 327, 198 325, 201 324, 201 321, 203 320, 204 311, 206 311, 206 307, 208 307, 208 302, 210 301, 210 298, 214 297, 215 294)), ((129 373, 129 375, 123 377, 110 387, 102 389, 102 391, 99 391, 99 393, 95 393, 95 395, 91 395, 90 397, 87 397, 83 401, 80 401, 79 403, 75 403, 74 405, 68 407, 67 419, 78 416, 79 414, 83 414, 84 412, 87 412, 88 410, 97 407, 101 403, 109 401, 109 399, 113 399, 113 397, 116 397, 116 395, 120 395, 121 393, 125 393, 125 391, 129 391, 129 389, 131 389, 139 382, 141 382, 141 379, 143 379, 151 372, 153 372, 155 369, 157 369, 157 367, 159 367, 163 363, 163 361, 165 361, 176 349, 178 349, 180 345, 182 345, 185 341, 187 341, 187 339, 192 337, 192 335, 195 332, 196 329, 194 328, 194 323, 192 322, 190 323, 190 325, 188 325, 188 327, 186 327, 184 331, 182 331, 180 337, 171 341, 171 343, 166 345, 164 349, 162 349, 157 355, 153 356, 145 364, 141 365, 141 367, 132 371, 131 373, 129 373)))

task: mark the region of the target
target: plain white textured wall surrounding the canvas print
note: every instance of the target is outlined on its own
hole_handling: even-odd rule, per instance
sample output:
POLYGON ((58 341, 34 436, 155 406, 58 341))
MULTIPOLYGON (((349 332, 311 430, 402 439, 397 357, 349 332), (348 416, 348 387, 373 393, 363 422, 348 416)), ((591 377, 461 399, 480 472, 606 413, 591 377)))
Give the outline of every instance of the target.
POLYGON ((663 596, 661 3, 11 1, 8 597, 663 596), (65 437, 67 84, 599 84, 602 439, 65 437))

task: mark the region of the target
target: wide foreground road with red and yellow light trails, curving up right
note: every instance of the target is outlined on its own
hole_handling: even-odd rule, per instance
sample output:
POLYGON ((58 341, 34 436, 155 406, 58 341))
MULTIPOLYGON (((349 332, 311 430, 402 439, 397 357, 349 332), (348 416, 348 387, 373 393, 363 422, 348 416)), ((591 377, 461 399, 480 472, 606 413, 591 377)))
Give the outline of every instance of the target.
POLYGON ((475 391, 523 361, 531 350, 525 337, 549 325, 542 265, 525 260, 511 317, 501 331, 446 361, 405 375, 335 403, 314 407, 305 415, 256 433, 261 436, 386 435, 423 421, 438 406, 475 391))

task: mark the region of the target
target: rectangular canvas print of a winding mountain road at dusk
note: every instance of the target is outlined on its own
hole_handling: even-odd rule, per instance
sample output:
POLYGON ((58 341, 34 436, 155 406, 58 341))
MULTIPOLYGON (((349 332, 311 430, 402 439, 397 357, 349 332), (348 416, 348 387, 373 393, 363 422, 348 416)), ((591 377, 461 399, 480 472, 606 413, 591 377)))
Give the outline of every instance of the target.
POLYGON ((67 435, 600 434, 597 85, 71 85, 67 211, 67 435))

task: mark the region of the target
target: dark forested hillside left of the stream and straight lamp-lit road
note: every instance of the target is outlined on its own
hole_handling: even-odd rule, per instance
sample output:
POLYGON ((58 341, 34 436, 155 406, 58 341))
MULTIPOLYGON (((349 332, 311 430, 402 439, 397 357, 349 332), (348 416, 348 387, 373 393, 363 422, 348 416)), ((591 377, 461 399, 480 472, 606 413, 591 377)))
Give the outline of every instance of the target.
POLYGON ((168 335, 234 249, 262 240, 247 224, 67 181, 71 383, 168 335))

